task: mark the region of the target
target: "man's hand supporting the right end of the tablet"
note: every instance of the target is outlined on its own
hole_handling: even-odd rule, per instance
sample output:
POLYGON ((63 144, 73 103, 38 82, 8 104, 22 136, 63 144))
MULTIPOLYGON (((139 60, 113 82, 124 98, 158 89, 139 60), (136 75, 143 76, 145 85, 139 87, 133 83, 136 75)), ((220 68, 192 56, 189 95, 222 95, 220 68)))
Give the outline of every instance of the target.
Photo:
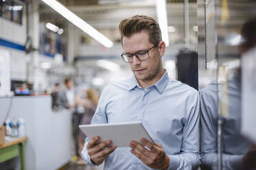
POLYGON ((139 158, 145 165, 153 169, 168 169, 169 156, 164 152, 164 149, 159 143, 155 145, 145 138, 141 138, 140 142, 147 146, 150 150, 146 149, 142 144, 131 141, 129 147, 131 147, 131 153, 139 158))

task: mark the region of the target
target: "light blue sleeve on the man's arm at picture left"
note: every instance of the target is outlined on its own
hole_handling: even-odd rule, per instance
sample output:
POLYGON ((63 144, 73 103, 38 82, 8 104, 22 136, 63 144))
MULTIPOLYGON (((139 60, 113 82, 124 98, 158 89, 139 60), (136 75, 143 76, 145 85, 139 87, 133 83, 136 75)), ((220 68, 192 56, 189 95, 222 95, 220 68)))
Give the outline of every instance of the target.
MULTIPOLYGON (((106 89, 106 88, 105 88, 106 89)), ((96 112, 94 114, 94 117, 92 118, 92 123, 91 124, 100 124, 100 123, 107 123, 107 114, 106 114, 106 90, 103 90, 103 92, 100 95, 100 99, 98 101, 98 106, 96 108, 96 112)), ((85 145, 83 146, 83 150, 81 152, 81 157, 85 160, 85 162, 87 162, 88 165, 94 165, 94 166, 98 166, 96 164, 94 164, 94 162, 92 162, 88 152, 87 152, 87 145, 89 142, 89 138, 85 138, 85 145)))

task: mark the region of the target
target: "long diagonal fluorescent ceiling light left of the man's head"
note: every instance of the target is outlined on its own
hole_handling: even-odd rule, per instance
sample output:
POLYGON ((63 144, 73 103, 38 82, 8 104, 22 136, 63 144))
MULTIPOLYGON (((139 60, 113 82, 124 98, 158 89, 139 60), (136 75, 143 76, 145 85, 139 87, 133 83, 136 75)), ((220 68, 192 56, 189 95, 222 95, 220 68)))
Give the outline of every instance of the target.
POLYGON ((83 19, 76 16, 76 14, 74 14, 73 12, 65 8, 65 6, 63 6, 58 1, 55 1, 55 0, 41 0, 41 1, 49 5, 50 8, 58 12, 58 14, 61 14, 65 19, 67 19, 68 21, 76 25, 76 27, 80 28, 83 32, 85 32, 86 34, 88 34, 98 42, 100 42, 100 44, 108 48, 113 46, 113 42, 111 42, 111 40, 109 40, 103 34, 101 34, 96 29, 94 29, 94 27, 87 24, 85 21, 83 21, 83 19))

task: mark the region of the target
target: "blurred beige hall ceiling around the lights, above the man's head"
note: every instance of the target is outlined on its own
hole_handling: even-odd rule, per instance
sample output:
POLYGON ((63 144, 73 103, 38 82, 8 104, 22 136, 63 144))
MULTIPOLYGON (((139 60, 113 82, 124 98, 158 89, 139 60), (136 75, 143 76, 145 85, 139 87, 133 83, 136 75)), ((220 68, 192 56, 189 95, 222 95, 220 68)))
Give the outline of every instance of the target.
MULTIPOLYGON (((105 34, 110 40, 118 42, 120 35, 118 25, 122 19, 136 14, 145 14, 156 19, 156 5, 153 0, 59 0, 68 9, 81 17, 92 27, 105 34)), ((168 25, 176 28, 171 34, 175 42, 182 42, 184 35, 184 5, 182 0, 167 1, 168 25)), ((197 25, 197 3, 189 1, 189 23, 191 30, 197 25)), ((67 21, 54 10, 41 3, 40 21, 54 23, 58 27, 67 28, 67 21)), ((85 35, 86 36, 86 35, 85 35)))

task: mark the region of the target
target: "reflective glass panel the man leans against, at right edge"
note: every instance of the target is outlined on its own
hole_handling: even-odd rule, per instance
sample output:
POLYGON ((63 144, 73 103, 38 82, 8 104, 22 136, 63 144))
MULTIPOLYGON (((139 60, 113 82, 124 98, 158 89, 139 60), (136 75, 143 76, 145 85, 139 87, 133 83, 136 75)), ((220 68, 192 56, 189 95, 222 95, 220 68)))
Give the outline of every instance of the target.
POLYGON ((255 1, 198 1, 198 22, 204 23, 198 28, 203 32, 198 50, 201 169, 255 169, 250 167, 256 156, 256 112, 250 102, 255 103, 256 96, 250 95, 256 94, 252 88, 256 82, 255 9, 255 1), (208 24, 211 19, 214 25, 208 24), (209 64, 209 58, 215 58, 216 64, 209 64), (248 73, 251 76, 246 79, 248 73))

